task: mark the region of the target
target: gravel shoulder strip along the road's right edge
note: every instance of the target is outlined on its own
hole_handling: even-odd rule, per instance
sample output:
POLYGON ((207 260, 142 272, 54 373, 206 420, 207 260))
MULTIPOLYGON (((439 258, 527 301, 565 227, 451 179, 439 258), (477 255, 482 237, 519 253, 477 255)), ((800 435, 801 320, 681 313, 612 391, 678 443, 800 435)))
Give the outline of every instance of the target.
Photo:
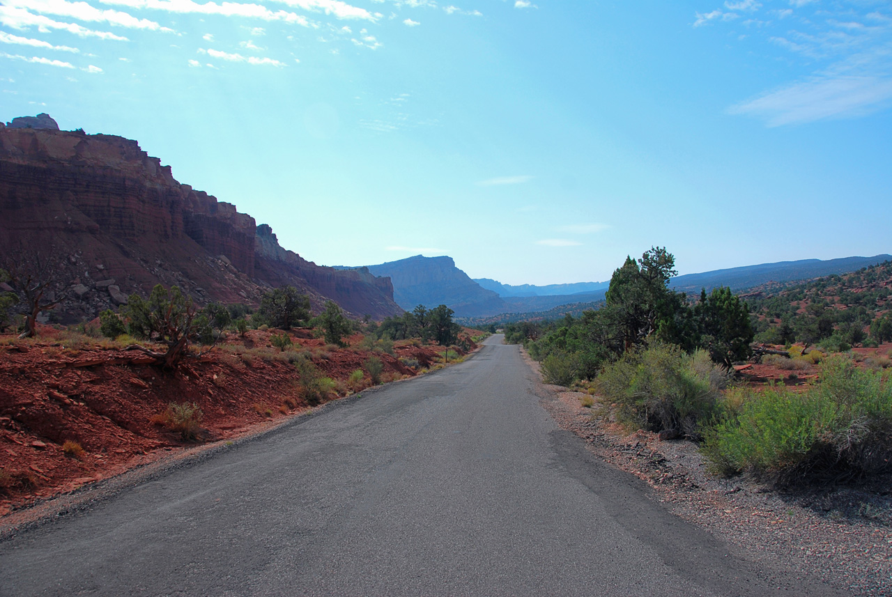
POLYGON ((694 443, 626 433, 583 407, 582 393, 541 384, 539 364, 522 353, 535 373, 541 405, 555 421, 582 437, 591 453, 647 481, 682 519, 756 559, 801 570, 853 595, 892 594, 892 478, 799 494, 782 494, 751 478, 716 478, 694 443))

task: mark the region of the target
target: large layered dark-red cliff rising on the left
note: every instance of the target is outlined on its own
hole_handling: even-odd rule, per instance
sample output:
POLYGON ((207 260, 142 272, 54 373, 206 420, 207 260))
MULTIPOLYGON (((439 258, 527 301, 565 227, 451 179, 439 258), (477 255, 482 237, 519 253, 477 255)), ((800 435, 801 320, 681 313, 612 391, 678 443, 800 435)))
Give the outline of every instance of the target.
POLYGON ((352 315, 401 313, 389 280, 282 249, 268 226, 179 184, 136 141, 12 126, 21 120, 0 127, 0 257, 40 247, 58 259, 59 290, 76 289, 52 312, 60 321, 92 318, 157 283, 200 304, 257 303, 268 287, 292 284, 317 309, 332 299, 352 315))

